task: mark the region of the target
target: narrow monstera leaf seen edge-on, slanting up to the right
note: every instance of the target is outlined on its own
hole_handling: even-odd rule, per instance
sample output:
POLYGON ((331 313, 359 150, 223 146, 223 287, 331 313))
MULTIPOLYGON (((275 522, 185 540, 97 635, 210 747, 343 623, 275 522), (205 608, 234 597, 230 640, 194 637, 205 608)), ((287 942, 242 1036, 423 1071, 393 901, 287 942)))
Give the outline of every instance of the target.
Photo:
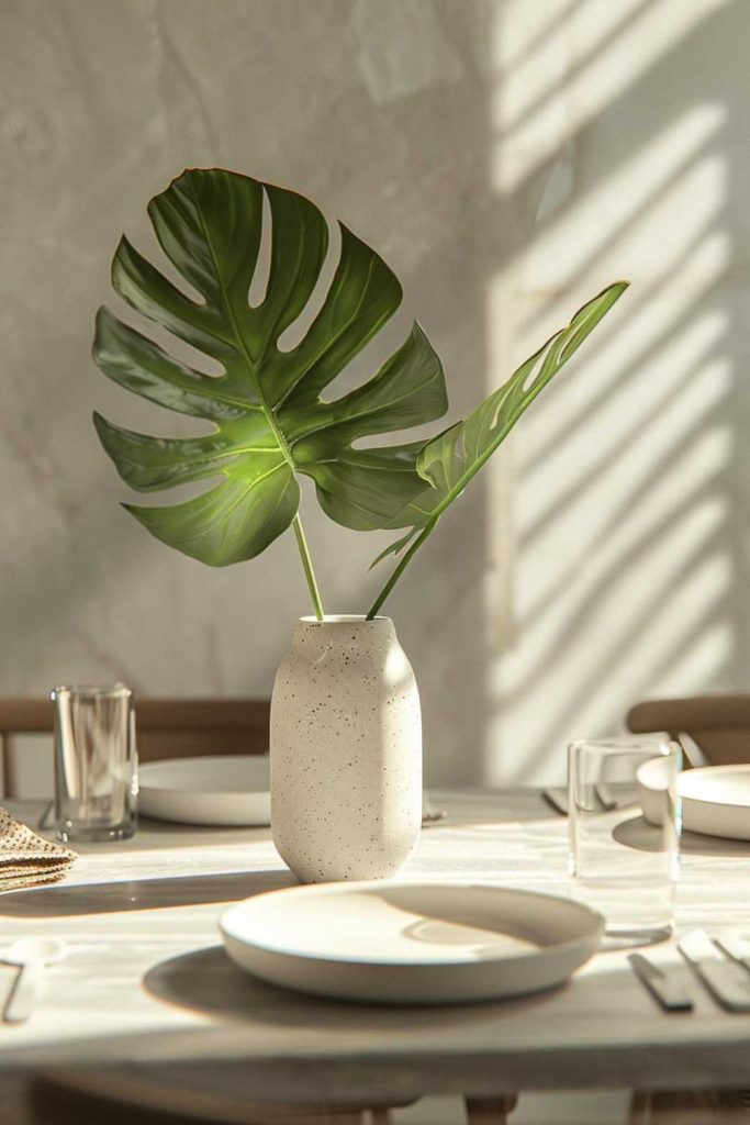
POLYGON ((409 531, 386 548, 372 566, 388 555, 399 554, 417 537, 426 538, 445 508, 461 495, 524 411, 578 351, 626 288, 626 281, 617 281, 589 300, 564 328, 551 336, 467 418, 423 446, 417 458, 423 489, 407 502, 391 523, 392 528, 409 526, 409 531))

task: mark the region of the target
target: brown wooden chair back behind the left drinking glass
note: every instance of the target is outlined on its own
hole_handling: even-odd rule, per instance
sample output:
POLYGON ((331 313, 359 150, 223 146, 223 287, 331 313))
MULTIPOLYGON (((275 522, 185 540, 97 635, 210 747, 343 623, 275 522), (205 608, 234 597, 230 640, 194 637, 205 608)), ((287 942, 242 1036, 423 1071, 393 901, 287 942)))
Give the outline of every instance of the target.
MULTIPOLYGON (((268 700, 137 699, 138 758, 195 757, 202 754, 266 754, 268 700)), ((6 796, 16 792, 11 744, 16 735, 52 735, 54 704, 48 699, 0 699, 0 753, 6 796)))

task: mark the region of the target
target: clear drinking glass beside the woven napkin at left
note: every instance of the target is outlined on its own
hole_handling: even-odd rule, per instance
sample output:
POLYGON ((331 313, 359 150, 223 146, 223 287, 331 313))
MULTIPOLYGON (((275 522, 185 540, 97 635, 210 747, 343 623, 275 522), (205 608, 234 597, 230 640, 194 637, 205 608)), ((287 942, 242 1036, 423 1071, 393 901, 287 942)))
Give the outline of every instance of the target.
POLYGON ((136 825, 133 692, 55 687, 55 813, 62 840, 118 840, 136 825))

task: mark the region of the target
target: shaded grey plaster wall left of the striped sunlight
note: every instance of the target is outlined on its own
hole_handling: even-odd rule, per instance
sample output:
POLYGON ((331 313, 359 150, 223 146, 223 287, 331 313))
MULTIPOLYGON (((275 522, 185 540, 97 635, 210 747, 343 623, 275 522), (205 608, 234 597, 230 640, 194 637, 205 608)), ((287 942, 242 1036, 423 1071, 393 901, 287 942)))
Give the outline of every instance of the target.
MULTIPOLYGON (((455 408, 472 403, 486 378, 488 14, 351 0, 2 0, 0 14, 0 691, 123 678, 151 694, 265 694, 309 612, 293 537, 210 570, 118 507, 127 489, 92 408, 151 432, 169 416, 90 360, 97 306, 117 304, 109 262, 124 230, 152 252, 145 204, 184 166, 295 187, 403 279, 380 353, 417 316, 455 408)), ((479 488, 389 605, 433 776, 479 770, 481 503, 479 488)), ((327 606, 367 608, 386 540, 328 523, 311 494, 305 507, 327 606)))

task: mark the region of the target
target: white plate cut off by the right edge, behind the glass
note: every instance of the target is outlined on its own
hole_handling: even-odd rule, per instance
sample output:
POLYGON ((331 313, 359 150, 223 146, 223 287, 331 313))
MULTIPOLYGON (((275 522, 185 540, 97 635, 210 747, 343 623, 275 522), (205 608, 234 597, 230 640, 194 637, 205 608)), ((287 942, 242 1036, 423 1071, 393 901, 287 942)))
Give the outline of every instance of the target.
POLYGON ((689 831, 750 840, 750 765, 687 770, 677 791, 689 831))

